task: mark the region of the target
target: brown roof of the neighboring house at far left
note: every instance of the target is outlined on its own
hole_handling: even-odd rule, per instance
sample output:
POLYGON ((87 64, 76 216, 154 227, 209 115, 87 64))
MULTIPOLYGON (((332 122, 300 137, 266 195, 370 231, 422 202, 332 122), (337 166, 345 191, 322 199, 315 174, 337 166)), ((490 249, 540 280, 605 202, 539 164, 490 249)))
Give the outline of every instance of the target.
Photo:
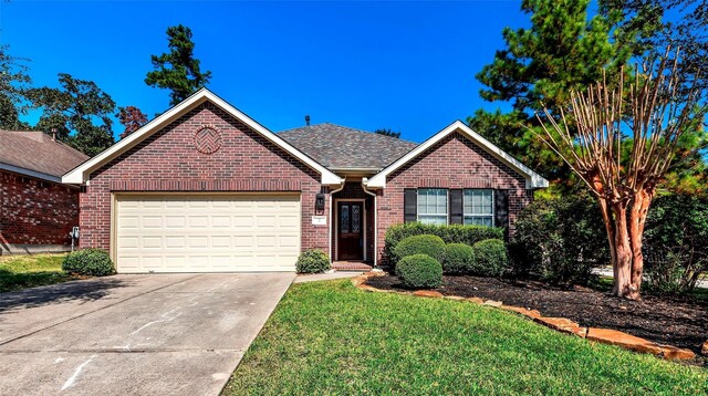
POLYGON ((86 159, 41 131, 0 129, 0 169, 60 183, 62 175, 86 159))

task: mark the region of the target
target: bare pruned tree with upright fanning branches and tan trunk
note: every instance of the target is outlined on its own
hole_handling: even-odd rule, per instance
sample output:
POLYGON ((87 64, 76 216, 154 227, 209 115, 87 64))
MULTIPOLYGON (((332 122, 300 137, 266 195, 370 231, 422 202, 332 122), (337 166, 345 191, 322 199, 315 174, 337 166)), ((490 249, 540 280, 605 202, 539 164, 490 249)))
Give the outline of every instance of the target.
POLYGON ((559 154, 596 197, 610 242, 613 293, 638 300, 642 288, 644 223, 657 185, 680 149, 681 137, 701 127, 700 92, 685 88, 678 53, 637 65, 584 92, 571 92, 555 118, 544 108, 545 144, 559 154), (626 92, 625 92, 626 88, 626 92), (685 94, 685 92, 688 92, 685 94))

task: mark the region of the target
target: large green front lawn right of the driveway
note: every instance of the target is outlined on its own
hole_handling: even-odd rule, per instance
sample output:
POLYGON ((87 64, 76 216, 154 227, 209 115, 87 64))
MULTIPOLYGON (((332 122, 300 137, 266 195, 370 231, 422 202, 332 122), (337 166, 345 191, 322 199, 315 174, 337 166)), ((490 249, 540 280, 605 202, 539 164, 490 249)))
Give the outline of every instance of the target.
POLYGON ((294 284, 225 395, 705 394, 708 371, 441 299, 294 284))

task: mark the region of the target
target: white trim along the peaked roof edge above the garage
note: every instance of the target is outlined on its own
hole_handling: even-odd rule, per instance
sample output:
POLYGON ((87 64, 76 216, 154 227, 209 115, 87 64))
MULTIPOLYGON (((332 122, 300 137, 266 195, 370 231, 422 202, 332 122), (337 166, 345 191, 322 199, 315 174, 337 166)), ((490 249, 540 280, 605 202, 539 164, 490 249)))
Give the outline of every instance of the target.
POLYGON ((165 127, 173 121, 179 118, 181 115, 186 114, 187 112, 191 111, 192 108, 197 107, 198 105, 207 101, 219 106, 229 115, 233 116, 235 118, 239 119, 243 124, 248 125, 250 128, 256 131, 256 133, 260 134, 266 139, 273 143, 275 146, 288 152, 293 157, 298 158, 300 161, 302 161, 310 168, 317 171, 321 175, 321 183, 323 185, 340 185, 342 183, 342 178, 340 178, 337 175, 330 171, 326 167, 320 165, 317 161, 313 160, 312 158, 310 158, 309 156, 306 156, 305 154, 303 154, 302 152, 293 147, 291 144, 289 144, 288 142, 285 142, 284 139, 275 135, 274 133, 270 132, 268 128, 260 125, 248 115, 241 113, 239 110, 231 106, 226 101, 215 95, 211 91, 207 88, 201 88, 197 91, 195 94, 184 100, 180 104, 174 106, 169 111, 163 113, 157 118, 145 124, 142 128, 132 133, 126 138, 121 139, 118 143, 108 147, 97 156, 91 158, 86 163, 69 171, 62 177, 62 180, 64 183, 72 183, 72 184, 81 184, 86 181, 88 175, 93 170, 100 168, 101 166, 111 161, 113 158, 135 147, 138 143, 145 140, 147 137, 160 131, 163 127, 165 127))

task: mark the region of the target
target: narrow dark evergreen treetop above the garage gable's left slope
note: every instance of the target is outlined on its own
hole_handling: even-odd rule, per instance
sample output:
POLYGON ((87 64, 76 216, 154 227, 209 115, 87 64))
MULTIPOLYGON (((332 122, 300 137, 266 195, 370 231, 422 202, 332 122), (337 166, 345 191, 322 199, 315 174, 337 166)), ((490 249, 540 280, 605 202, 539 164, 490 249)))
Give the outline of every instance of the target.
POLYGON ((209 84, 211 72, 201 72, 199 60, 195 59, 195 43, 191 29, 185 25, 167 28, 168 53, 153 55, 153 70, 147 73, 145 83, 170 90, 169 104, 176 105, 189 95, 209 84))

